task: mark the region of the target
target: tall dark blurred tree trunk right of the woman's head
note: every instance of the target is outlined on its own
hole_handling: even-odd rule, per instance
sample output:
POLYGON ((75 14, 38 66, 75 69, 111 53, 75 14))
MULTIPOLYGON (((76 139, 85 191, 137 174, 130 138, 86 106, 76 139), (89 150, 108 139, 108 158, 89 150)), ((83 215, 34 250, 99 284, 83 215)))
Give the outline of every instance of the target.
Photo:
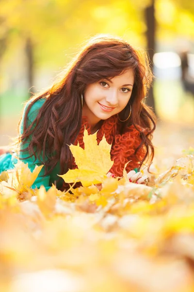
MULTIPOLYGON (((156 29, 156 20, 155 20, 155 0, 151 0, 150 6, 147 6, 145 9, 145 17, 146 17, 146 39, 147 39, 147 51, 150 58, 150 67, 153 71, 153 55, 155 52, 155 29, 156 29)), ((154 110, 156 113, 155 108, 155 101, 154 101, 154 93, 153 87, 150 88, 148 97, 146 98, 146 104, 154 110)), ((157 113, 156 113, 157 114, 157 113)))

